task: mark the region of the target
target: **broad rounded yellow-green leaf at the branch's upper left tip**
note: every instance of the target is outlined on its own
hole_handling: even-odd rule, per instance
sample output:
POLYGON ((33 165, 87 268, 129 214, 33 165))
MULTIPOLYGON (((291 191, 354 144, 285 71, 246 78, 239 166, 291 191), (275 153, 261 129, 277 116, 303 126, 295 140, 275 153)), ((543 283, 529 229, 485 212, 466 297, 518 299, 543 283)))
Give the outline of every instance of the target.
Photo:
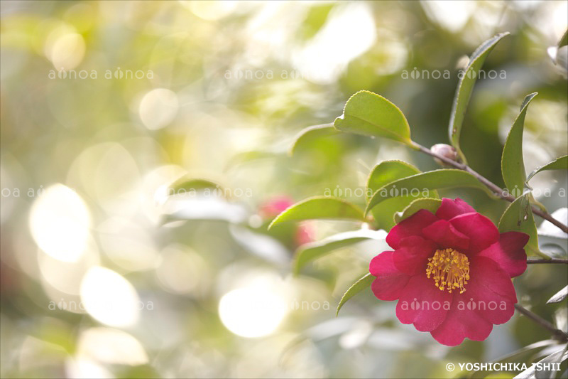
POLYGON ((412 145, 408 121, 398 107, 381 95, 359 91, 347 100, 334 127, 344 132, 385 137, 412 145))

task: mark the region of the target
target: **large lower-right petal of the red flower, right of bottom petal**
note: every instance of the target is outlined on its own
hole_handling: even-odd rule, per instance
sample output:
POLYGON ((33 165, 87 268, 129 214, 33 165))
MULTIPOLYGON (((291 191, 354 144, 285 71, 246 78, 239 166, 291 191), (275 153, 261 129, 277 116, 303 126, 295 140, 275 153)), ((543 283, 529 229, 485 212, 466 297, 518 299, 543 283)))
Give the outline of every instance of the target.
POLYGON ((503 324, 515 313, 517 294, 509 274, 496 262, 476 256, 469 264, 466 292, 457 299, 470 304, 479 316, 491 324, 503 324))

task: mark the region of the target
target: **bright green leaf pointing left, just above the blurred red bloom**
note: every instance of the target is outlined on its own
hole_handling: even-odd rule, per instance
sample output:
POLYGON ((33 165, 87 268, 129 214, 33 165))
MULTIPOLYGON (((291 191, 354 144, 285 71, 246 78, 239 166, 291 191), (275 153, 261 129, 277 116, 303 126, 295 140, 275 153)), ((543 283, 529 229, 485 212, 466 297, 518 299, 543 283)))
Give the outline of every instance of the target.
POLYGON ((359 220, 365 221, 365 216, 358 206, 342 198, 315 196, 290 206, 280 213, 268 225, 268 229, 284 221, 300 221, 320 218, 327 220, 359 220))

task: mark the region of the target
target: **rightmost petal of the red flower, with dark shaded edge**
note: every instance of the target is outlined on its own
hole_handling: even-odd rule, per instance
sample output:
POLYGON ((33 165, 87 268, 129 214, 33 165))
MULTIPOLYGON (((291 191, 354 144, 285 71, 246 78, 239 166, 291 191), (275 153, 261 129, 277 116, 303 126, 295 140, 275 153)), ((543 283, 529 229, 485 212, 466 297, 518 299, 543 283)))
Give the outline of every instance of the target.
POLYGON ((528 238, 528 235, 520 232, 501 233, 498 242, 479 252, 477 256, 491 258, 510 277, 517 277, 527 269, 527 254, 523 247, 528 238))

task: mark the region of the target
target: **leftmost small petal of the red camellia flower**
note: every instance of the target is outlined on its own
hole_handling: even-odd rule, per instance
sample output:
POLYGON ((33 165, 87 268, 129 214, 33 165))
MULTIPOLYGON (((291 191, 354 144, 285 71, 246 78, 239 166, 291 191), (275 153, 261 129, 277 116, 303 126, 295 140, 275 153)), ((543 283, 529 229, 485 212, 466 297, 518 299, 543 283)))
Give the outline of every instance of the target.
POLYGON ((381 252, 371 260, 369 272, 377 278, 371 284, 373 294, 378 299, 392 301, 398 299, 410 277, 398 271, 393 263, 393 252, 381 252))

